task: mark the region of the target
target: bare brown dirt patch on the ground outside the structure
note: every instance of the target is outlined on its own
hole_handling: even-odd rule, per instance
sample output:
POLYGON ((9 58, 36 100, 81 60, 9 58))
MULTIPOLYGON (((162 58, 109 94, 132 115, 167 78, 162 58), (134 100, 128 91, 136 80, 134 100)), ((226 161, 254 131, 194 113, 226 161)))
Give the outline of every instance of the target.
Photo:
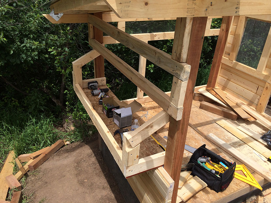
POLYGON ((125 202, 98 140, 64 146, 29 174, 23 193, 32 203, 125 202))

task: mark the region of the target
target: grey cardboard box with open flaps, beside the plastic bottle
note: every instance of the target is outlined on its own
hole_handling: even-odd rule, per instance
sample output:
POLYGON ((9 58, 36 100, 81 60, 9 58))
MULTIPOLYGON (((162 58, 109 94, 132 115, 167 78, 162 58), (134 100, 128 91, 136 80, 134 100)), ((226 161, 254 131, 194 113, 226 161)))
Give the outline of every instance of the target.
POLYGON ((119 128, 132 125, 133 113, 138 111, 142 105, 137 101, 126 105, 124 108, 113 110, 113 121, 119 128))

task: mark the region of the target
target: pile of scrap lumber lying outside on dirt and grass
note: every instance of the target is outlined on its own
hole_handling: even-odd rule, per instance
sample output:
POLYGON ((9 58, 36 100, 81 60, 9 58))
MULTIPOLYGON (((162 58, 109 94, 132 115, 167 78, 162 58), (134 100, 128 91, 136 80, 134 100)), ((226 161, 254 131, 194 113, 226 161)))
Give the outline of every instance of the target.
POLYGON ((20 203, 22 202, 22 185, 20 179, 30 170, 34 171, 42 165, 53 153, 59 150, 64 145, 64 140, 58 140, 50 147, 38 150, 31 154, 21 154, 15 158, 15 162, 19 171, 13 175, 15 153, 10 151, 4 166, 0 172, 0 203, 20 203), (27 162, 24 166, 23 162, 27 162), (6 201, 8 189, 14 189, 11 201, 6 201))

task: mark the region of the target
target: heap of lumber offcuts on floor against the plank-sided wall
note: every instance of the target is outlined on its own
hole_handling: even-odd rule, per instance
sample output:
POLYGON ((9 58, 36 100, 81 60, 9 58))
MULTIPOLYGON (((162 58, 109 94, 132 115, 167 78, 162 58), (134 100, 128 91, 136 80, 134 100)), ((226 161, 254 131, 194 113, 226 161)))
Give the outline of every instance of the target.
POLYGON ((236 120, 240 117, 248 121, 258 121, 265 127, 271 129, 271 118, 266 114, 256 111, 255 108, 248 106, 243 101, 226 93, 222 89, 215 88, 201 88, 199 93, 194 94, 194 100, 201 101, 200 108, 207 110, 214 114, 221 115, 225 118, 236 120), (207 100, 211 99, 210 100, 207 100), (215 103, 215 104, 214 104, 215 103), (218 106, 219 105, 219 106, 218 106))

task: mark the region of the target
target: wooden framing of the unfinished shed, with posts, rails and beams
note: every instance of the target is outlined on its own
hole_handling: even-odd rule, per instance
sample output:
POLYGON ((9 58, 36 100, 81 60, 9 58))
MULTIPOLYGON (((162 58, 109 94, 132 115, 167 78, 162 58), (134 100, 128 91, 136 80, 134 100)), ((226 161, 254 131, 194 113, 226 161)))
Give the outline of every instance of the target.
MULTIPOLYGON (((271 78, 265 72, 265 69, 269 71, 265 66, 270 66, 271 72, 269 44, 264 48, 265 51, 260 62, 263 67, 260 65, 259 70, 247 67, 235 61, 239 49, 238 43, 242 39, 247 17, 238 16, 232 20, 232 17, 225 16, 221 29, 210 29, 212 17, 206 16, 255 15, 259 14, 259 10, 261 14, 268 14, 269 16, 271 14, 269 2, 241 0, 236 5, 234 0, 224 2, 214 0, 211 4, 198 0, 189 3, 173 0, 170 4, 160 0, 149 0, 147 2, 143 0, 72 0, 70 2, 59 0, 53 2, 50 7, 51 9, 54 8, 55 13, 64 12, 59 22, 55 22, 50 16, 46 15, 46 18, 52 23, 88 23, 89 44, 93 50, 72 63, 74 90, 141 202, 175 203, 177 200, 178 186, 176 187, 176 185, 178 184, 175 187, 173 184, 174 182, 178 183, 180 178, 181 158, 184 153, 204 36, 220 35, 217 44, 220 49, 216 50, 216 60, 213 62, 211 71, 213 76, 210 80, 211 87, 217 84, 217 86, 222 87, 222 90, 232 91, 234 94, 243 97, 247 102, 251 102, 254 107, 257 107, 260 103, 257 109, 259 111, 263 111, 266 106, 266 98, 271 94, 269 87, 271 78), (114 13, 107 12, 107 10, 112 10, 114 13), (125 21, 172 19, 176 19, 175 32, 132 35, 125 32, 125 21), (116 28, 107 22, 118 22, 118 26, 116 28), (103 32, 108 36, 103 36, 103 32), (146 43, 152 40, 173 38, 172 56, 146 43), (138 72, 104 46, 114 43, 122 43, 139 54, 138 72), (138 87, 136 98, 138 102, 155 101, 163 109, 135 131, 124 133, 122 149, 103 122, 102 115, 97 113, 94 108, 95 104, 91 103, 86 95, 87 90, 85 88, 88 82, 97 80, 99 85, 106 84, 104 58, 138 87), (164 93, 145 78, 147 59, 173 75, 171 92, 164 93), (95 78, 82 80, 82 67, 91 60, 94 60, 95 78), (254 83, 253 85, 244 85, 244 78, 242 79, 242 75, 238 75, 238 71, 243 72, 244 70, 247 71, 247 78, 256 78, 254 83, 259 83, 258 87, 254 83), (237 77, 228 82, 227 74, 229 72, 237 77), (239 85, 242 86, 241 89, 234 92, 233 90, 237 89, 239 85), (143 93, 148 96, 144 97, 143 93), (141 142, 168 122, 167 151, 139 158, 141 142), (159 167, 162 165, 164 165, 164 168, 159 167)), ((225 99, 232 101, 232 98, 227 97, 228 94, 225 93, 225 95, 225 99)), ((124 102, 129 103, 131 101, 133 99, 124 102)), ((244 115, 247 114, 243 103, 241 106, 239 109, 244 111, 244 115)))

